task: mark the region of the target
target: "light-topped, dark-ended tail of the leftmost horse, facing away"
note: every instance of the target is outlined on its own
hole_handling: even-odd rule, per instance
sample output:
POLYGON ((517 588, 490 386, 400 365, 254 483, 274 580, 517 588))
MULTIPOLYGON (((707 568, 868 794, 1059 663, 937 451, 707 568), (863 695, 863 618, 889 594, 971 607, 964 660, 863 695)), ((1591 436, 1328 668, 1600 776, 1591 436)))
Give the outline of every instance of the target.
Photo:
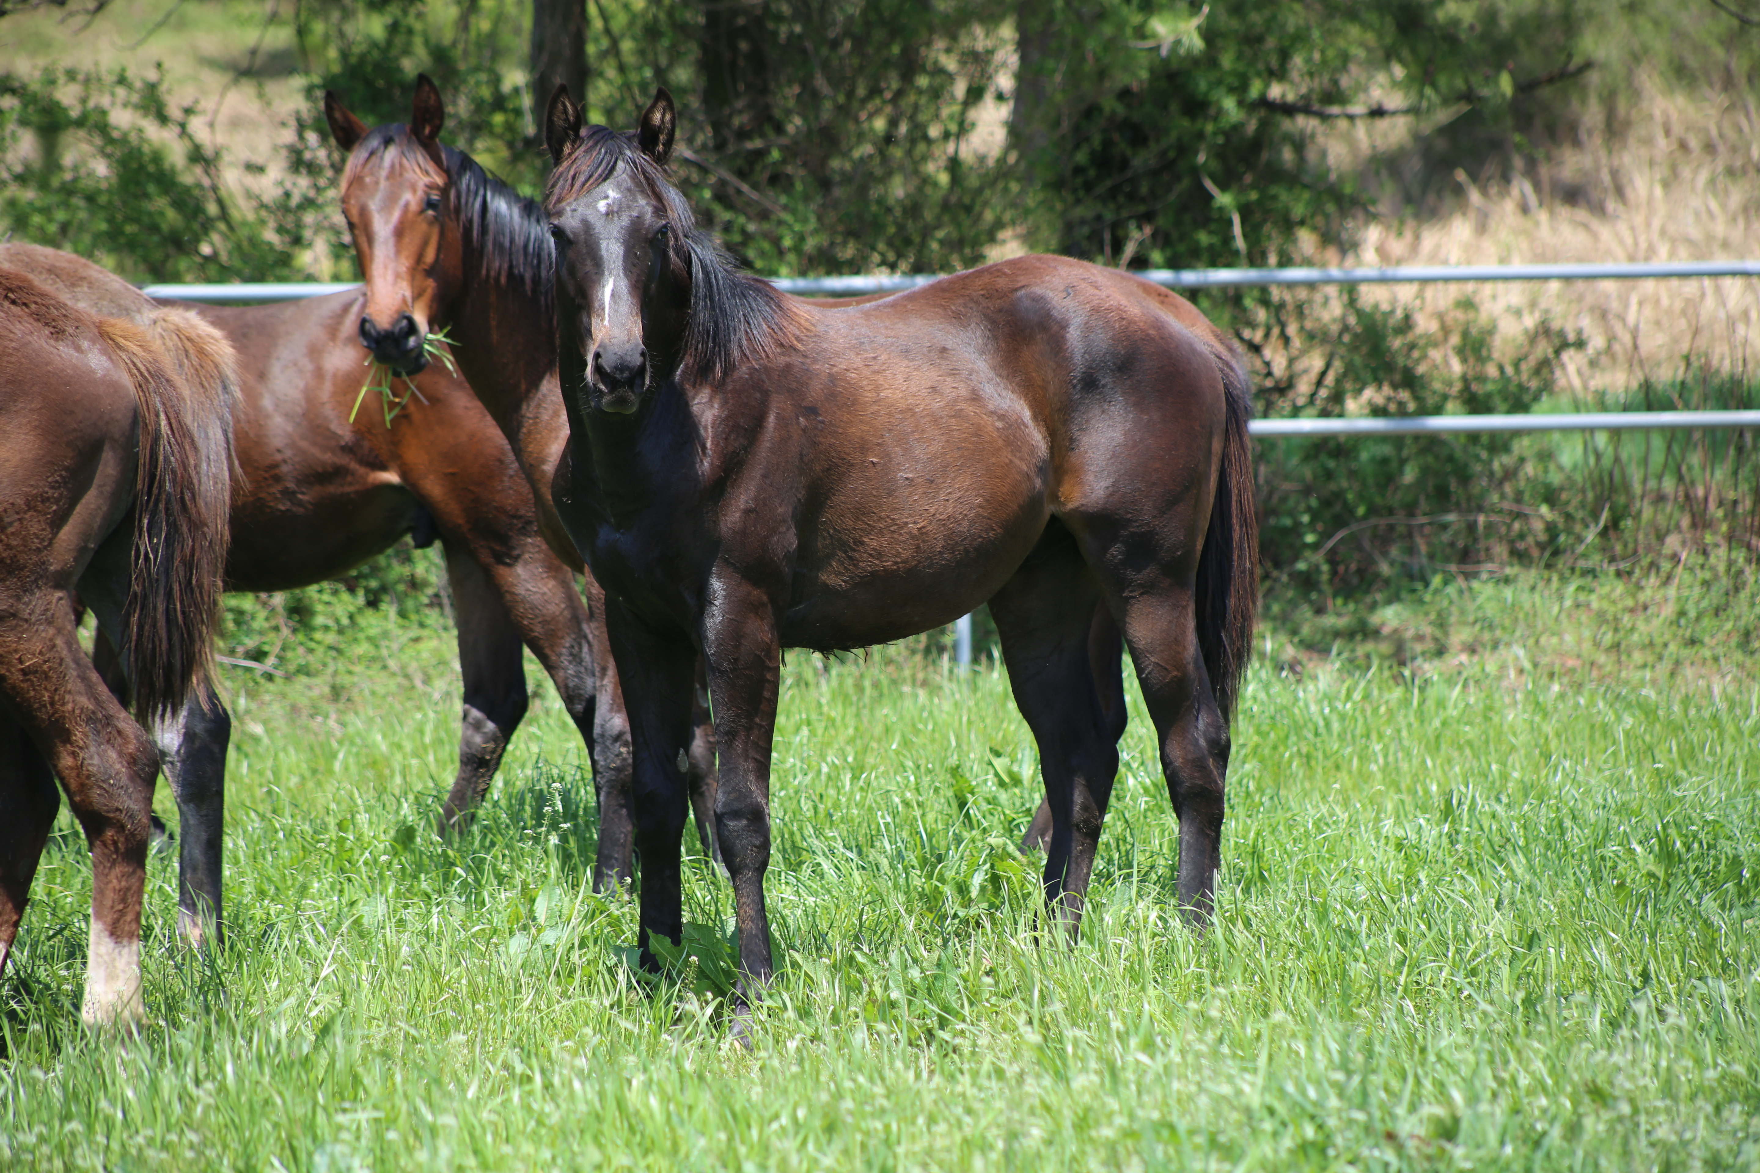
POLYGON ((232 498, 232 346, 192 313, 99 318, 139 419, 123 665, 143 721, 213 682, 232 498))

